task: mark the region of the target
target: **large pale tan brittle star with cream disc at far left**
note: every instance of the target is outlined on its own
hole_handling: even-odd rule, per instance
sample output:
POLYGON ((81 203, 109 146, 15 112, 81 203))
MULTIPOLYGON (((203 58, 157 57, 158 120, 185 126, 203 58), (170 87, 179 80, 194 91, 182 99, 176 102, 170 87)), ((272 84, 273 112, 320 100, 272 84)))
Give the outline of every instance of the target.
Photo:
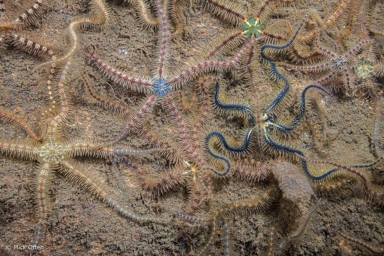
POLYGON ((0 108, 0 117, 10 121, 30 134, 33 139, 0 138, 0 153, 14 158, 36 161, 38 169, 32 181, 34 201, 37 205, 37 225, 33 245, 41 240, 44 227, 51 213, 50 191, 54 172, 62 174, 85 190, 96 195, 98 199, 112 207, 122 216, 138 222, 162 222, 158 218, 137 215, 124 206, 124 199, 112 188, 108 187, 94 173, 90 173, 82 165, 74 161, 77 156, 90 156, 97 158, 111 158, 124 155, 137 155, 159 149, 135 150, 121 146, 104 146, 102 143, 84 138, 65 139, 62 129, 73 116, 72 101, 66 89, 66 77, 70 72, 71 63, 68 61, 60 68, 52 68, 51 74, 45 81, 46 90, 50 99, 50 113, 43 123, 45 130, 41 137, 32 131, 27 122, 4 108, 0 108))

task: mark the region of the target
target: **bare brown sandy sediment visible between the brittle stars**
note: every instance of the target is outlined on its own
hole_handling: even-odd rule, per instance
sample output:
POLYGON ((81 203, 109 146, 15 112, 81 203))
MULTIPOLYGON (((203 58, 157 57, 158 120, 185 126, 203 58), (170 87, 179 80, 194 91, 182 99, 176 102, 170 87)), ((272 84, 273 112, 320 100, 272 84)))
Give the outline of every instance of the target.
MULTIPOLYGON (((239 2, 246 3, 245 0, 239 2)), ((150 75, 155 58, 158 32, 142 26, 134 9, 124 3, 108 1, 111 7, 109 26, 103 31, 84 31, 79 33, 81 40, 95 46, 97 53, 115 65, 140 74, 150 75), (123 53, 127 53, 124 55, 123 53)), ((272 15, 273 20, 287 19, 293 28, 300 23, 309 9, 316 9, 322 17, 333 11, 333 1, 311 0, 300 8, 278 9, 272 15)), ((60 41, 63 31, 76 17, 89 12, 84 0, 54 1, 37 25, 28 30, 45 37, 49 41, 60 41)), ((187 63, 198 56, 212 38, 218 36, 230 25, 211 15, 199 6, 193 5, 185 11, 187 17, 187 35, 172 40, 170 65, 172 68, 187 63)), ((173 29, 173 28, 172 28, 173 29)), ((383 48, 380 48, 383 54, 383 48)), ((40 109, 46 104, 45 90, 39 85, 39 71, 33 67, 41 59, 28 55, 17 49, 8 48, 0 54, 0 105, 16 111, 32 123, 32 128, 39 130, 40 109)), ((144 95, 131 93, 114 82, 102 77, 98 71, 87 64, 86 53, 79 47, 74 59, 75 70, 69 77, 69 92, 75 106, 75 121, 65 128, 68 137, 85 137, 110 141, 124 129, 124 123, 118 115, 100 108, 91 98, 81 83, 76 72, 87 70, 92 86, 108 97, 116 97, 128 105, 136 105, 144 95)), ((261 66, 261 64, 260 64, 261 66)), ((260 84, 266 88, 276 86, 260 68, 257 74, 260 84)), ((228 99, 241 97, 244 79, 240 74, 229 74, 230 84, 225 92, 228 99)), ((308 76, 300 72, 290 73, 293 85, 302 87, 308 84, 308 76)), ((380 84, 383 89, 383 83, 380 84)), ((263 99, 265 95, 261 95, 263 99)), ((337 161, 350 165, 369 163, 375 160, 372 147, 375 126, 375 104, 357 103, 344 96, 335 96, 327 101, 326 112, 328 124, 337 134, 336 139, 324 145, 311 133, 298 139, 298 145, 306 148, 309 157, 337 161)), ((266 104, 263 102, 262 104, 266 104)), ((167 129, 169 122, 159 107, 157 116, 151 120, 154 125, 167 129)), ((215 116, 217 126, 237 135, 236 122, 215 116)), ((311 118, 311 116, 309 116, 311 118)), ((25 138, 20 129, 1 122, 0 134, 6 137, 25 138)), ((130 135, 123 142, 132 148, 149 148, 135 135, 130 135)), ((141 194, 137 185, 130 180, 128 171, 114 170, 110 161, 91 158, 77 159, 88 171, 97 174, 108 185, 120 191, 129 207, 142 214, 159 215, 175 218, 179 208, 186 200, 184 188, 174 189, 157 199, 141 194)), ((140 164, 147 164, 159 170, 168 166, 167 160, 160 154, 131 158, 140 164)), ((0 157, 0 243, 2 245, 30 245, 33 239, 34 202, 31 196, 31 177, 37 168, 28 161, 0 157)), ((375 182, 383 187, 384 170, 379 167, 372 170, 375 182)), ((262 185, 230 180, 217 185, 214 190, 215 202, 229 203, 256 193, 262 185)), ((175 225, 137 224, 121 217, 82 188, 73 185, 63 176, 56 174, 53 190, 50 192, 53 202, 53 214, 46 228, 45 238, 41 243, 43 250, 37 255, 43 256, 82 256, 82 255, 145 255, 172 256, 179 255, 178 231, 175 225)), ((316 202, 302 205, 303 212, 312 209, 316 202)), ((269 250, 271 228, 282 218, 276 213, 278 205, 266 213, 258 215, 240 215, 230 220, 234 231, 235 255, 261 256, 269 250)), ((339 256, 339 238, 326 230, 332 225, 351 237, 361 239, 376 247, 384 247, 384 213, 383 209, 373 205, 364 198, 357 186, 353 185, 340 193, 324 197, 320 208, 312 215, 302 240, 293 246, 292 256, 339 256)), ((198 236, 192 246, 193 255, 208 239, 205 230, 198 236)), ((275 234, 276 235, 276 234, 275 234)), ((281 234, 276 235, 283 237, 281 234)), ((210 255, 223 255, 220 241, 213 243, 210 255)), ((277 248, 277 245, 273 245, 277 248)), ((353 248, 352 255, 362 255, 353 248)), ((28 254, 26 251, 13 251, 15 254, 28 254)), ((1 254, 1 253, 0 253, 1 254)))

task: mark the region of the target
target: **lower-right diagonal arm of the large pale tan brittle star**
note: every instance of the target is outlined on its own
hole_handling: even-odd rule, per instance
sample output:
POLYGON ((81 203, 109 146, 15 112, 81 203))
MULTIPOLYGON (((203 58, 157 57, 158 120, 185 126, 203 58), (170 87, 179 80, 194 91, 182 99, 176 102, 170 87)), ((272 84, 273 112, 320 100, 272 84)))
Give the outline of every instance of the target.
POLYGON ((89 173, 84 167, 80 166, 74 161, 63 160, 61 163, 59 173, 67 177, 69 180, 77 183, 87 191, 96 196, 97 199, 103 201, 108 206, 112 207, 116 212, 122 216, 140 223, 167 223, 169 221, 161 218, 144 216, 136 214, 124 206, 123 198, 115 191, 107 186, 103 181, 98 179, 95 175, 89 173))

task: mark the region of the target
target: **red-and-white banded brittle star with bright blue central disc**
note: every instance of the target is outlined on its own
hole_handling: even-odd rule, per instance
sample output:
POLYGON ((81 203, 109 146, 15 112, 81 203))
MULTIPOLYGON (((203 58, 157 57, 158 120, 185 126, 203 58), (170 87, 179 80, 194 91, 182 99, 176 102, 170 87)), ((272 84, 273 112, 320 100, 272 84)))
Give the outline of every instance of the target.
MULTIPOLYGON (((158 19, 161 20, 159 24, 160 36, 157 42, 157 56, 155 60, 155 67, 153 75, 140 76, 125 73, 123 70, 113 67, 96 56, 89 48, 91 62, 107 77, 115 81, 121 86, 127 87, 132 91, 144 92, 149 95, 132 113, 126 110, 119 109, 128 116, 126 120, 126 129, 111 142, 115 144, 121 141, 128 133, 140 128, 144 121, 147 120, 153 112, 155 106, 163 103, 167 106, 172 119, 178 127, 178 136, 183 145, 183 150, 188 152, 189 156, 201 167, 206 165, 202 157, 202 153, 196 148, 193 143, 186 136, 185 121, 181 112, 176 107, 174 101, 170 97, 175 91, 180 90, 189 81, 192 81, 199 75, 213 72, 213 71, 228 71, 232 68, 237 68, 240 58, 244 53, 249 50, 252 45, 257 42, 258 38, 251 39, 243 48, 241 48, 231 60, 217 59, 217 60, 196 60, 192 64, 180 68, 175 73, 169 71, 169 54, 170 54, 170 28, 167 13, 163 10, 160 0, 156 1, 156 9, 158 19)), ((97 99, 97 97, 95 97, 97 99)), ((111 109, 116 109, 115 106, 103 102, 111 109)), ((213 155, 212 155, 213 156, 213 155)), ((219 156, 213 156, 225 162, 227 169, 229 169, 229 162, 221 159, 219 156)))

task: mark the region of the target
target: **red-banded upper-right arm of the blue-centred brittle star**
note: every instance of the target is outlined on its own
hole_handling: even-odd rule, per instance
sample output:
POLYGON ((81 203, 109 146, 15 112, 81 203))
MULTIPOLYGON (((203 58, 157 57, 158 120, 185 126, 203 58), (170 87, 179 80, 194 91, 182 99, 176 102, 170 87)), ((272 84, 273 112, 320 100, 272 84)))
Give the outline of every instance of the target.
POLYGON ((178 90, 183 85, 187 84, 189 81, 193 80, 196 76, 205 74, 208 72, 221 72, 228 71, 232 68, 237 68, 239 66, 240 58, 245 55, 245 53, 250 50, 252 45, 261 40, 262 37, 253 38, 248 41, 232 58, 232 60, 226 59, 217 59, 217 60, 202 60, 197 61, 188 65, 187 67, 182 68, 169 82, 172 90, 178 90))

